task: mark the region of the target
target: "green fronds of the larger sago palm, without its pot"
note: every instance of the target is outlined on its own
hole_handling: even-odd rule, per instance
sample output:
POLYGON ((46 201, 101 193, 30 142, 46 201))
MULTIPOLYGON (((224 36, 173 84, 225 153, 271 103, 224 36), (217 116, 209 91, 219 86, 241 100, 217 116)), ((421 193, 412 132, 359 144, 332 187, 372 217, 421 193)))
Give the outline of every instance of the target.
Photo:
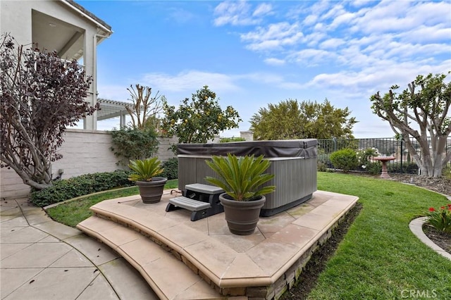
POLYGON ((264 156, 237 156, 228 154, 227 157, 213 156, 211 161, 205 161, 214 170, 219 178, 207 176, 206 181, 221 187, 226 194, 237 201, 249 201, 257 196, 274 192, 275 186, 262 185, 273 179, 274 175, 264 173, 270 161, 264 156))

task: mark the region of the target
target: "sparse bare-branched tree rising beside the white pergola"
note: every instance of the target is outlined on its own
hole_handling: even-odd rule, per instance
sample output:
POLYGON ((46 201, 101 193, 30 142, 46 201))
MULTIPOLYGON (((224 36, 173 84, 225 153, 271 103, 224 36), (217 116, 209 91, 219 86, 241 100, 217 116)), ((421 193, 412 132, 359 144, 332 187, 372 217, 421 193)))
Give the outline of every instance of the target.
POLYGON ((142 85, 135 85, 135 87, 136 90, 132 85, 127 89, 132 96, 133 104, 125 107, 132 118, 132 127, 142 129, 151 126, 158 130, 160 120, 157 115, 163 111, 162 107, 166 103, 166 97, 160 96, 159 92, 151 97, 151 87, 143 87, 142 85))

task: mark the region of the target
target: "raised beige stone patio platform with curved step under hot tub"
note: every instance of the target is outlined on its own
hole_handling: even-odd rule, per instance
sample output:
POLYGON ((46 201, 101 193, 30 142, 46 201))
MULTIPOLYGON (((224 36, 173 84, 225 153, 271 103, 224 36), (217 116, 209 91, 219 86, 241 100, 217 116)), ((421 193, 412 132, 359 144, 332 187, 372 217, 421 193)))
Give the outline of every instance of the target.
POLYGON ((78 225, 123 256, 161 299, 278 299, 357 202, 357 196, 314 192, 283 213, 260 218, 252 235, 232 235, 223 213, 190 221, 140 196, 103 201, 78 225))

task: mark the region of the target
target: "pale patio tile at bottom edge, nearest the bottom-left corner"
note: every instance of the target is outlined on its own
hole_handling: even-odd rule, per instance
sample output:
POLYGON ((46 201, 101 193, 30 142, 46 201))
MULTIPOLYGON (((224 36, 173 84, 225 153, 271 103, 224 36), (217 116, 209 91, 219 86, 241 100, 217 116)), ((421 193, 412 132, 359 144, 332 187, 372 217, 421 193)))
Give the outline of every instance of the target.
POLYGON ((77 299, 87 285, 99 275, 97 272, 94 273, 94 270, 95 268, 47 268, 32 277, 34 282, 20 286, 5 300, 77 299))

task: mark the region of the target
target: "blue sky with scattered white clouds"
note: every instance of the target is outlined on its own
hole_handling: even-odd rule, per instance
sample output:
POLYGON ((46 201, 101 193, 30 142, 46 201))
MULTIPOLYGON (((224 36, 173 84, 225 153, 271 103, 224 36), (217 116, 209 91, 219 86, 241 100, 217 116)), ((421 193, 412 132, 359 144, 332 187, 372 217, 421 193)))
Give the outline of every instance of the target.
POLYGON ((243 120, 221 137, 270 103, 326 98, 350 108, 355 137, 392 137, 369 97, 451 70, 450 1, 77 2, 114 32, 97 51, 99 97, 127 101, 139 83, 177 106, 208 85, 243 120))

